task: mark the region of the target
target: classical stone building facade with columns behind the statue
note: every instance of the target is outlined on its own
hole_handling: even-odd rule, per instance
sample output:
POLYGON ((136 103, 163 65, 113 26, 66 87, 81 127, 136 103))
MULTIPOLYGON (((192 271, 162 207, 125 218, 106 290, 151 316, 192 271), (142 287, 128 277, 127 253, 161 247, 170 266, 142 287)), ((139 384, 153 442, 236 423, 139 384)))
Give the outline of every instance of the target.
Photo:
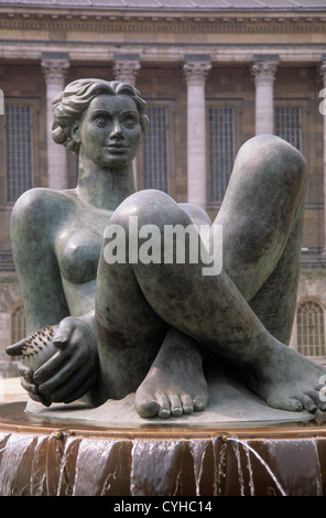
POLYGON ((31 187, 75 186, 76 159, 51 138, 51 101, 74 79, 100 77, 131 83, 149 101, 137 187, 213 217, 246 140, 275 133, 303 152, 291 345, 326 361, 326 1, 0 0, 0 359, 24 335, 12 206, 31 187))

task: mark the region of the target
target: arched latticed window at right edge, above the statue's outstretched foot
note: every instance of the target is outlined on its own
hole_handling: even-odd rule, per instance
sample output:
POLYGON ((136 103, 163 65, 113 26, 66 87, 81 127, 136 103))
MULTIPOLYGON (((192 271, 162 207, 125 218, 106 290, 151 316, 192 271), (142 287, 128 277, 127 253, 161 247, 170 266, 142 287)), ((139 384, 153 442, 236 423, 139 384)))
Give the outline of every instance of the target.
POLYGON ((306 301, 296 312, 297 352, 304 356, 326 356, 325 315, 320 304, 306 301))

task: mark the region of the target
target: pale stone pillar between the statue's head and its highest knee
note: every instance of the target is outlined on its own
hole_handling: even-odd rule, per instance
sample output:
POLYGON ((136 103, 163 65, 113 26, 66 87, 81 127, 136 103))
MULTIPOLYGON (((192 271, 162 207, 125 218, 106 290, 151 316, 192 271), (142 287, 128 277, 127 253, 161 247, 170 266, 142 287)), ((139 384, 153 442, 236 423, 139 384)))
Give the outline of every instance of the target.
POLYGON ((187 201, 206 208, 205 83, 211 68, 209 55, 185 56, 187 84, 187 201))

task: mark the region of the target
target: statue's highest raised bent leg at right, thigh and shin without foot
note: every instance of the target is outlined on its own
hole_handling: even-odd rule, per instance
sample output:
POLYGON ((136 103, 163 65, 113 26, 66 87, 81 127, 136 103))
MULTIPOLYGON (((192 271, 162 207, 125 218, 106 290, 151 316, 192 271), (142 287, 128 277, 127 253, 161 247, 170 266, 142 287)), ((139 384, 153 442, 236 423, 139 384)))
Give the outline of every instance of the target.
POLYGON ((306 192, 301 154, 274 136, 241 148, 217 224, 224 268, 267 330, 291 337, 306 192))

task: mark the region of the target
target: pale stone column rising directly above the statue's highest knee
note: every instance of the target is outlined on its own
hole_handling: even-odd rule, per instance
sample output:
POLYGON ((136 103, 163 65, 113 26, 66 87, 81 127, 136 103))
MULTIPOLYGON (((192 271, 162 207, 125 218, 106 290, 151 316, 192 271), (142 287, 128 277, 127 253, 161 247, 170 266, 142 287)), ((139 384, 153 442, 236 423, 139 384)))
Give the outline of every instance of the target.
POLYGON ((273 84, 279 56, 253 56, 256 84, 256 134, 274 132, 273 84))

